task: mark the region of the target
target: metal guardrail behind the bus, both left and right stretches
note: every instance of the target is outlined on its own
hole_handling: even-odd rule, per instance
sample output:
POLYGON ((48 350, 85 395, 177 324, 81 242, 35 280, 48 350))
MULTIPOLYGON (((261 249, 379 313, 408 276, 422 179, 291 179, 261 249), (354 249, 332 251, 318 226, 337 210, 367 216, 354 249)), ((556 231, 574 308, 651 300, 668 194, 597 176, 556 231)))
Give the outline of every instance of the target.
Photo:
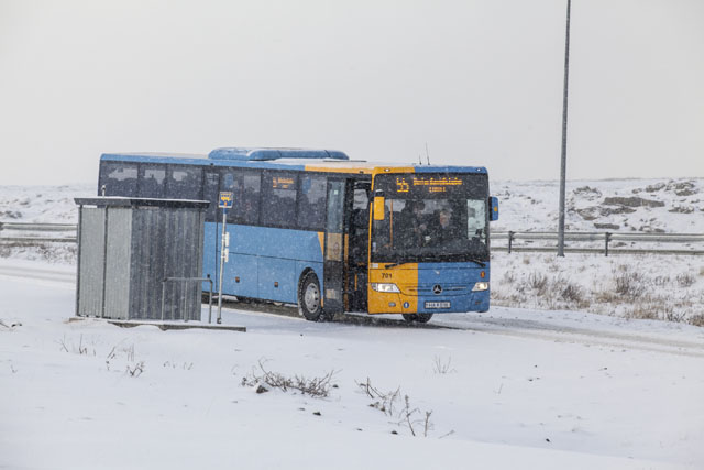
MULTIPOLYGON (((73 223, 14 223, 0 222, 0 243, 37 243, 37 242, 55 242, 55 243, 76 243, 77 226, 73 223), (66 237, 2 237, 3 231, 18 232, 65 232, 66 237)), ((519 232, 519 231, 493 231, 492 250, 516 252, 557 252, 558 232, 519 232), (497 242, 506 240, 506 245, 499 245, 497 242), (526 247, 525 244, 516 245, 516 242, 532 241, 554 241, 556 245, 548 247, 526 247)), ((603 253, 609 254, 685 254, 685 255, 704 255, 704 233, 624 233, 624 232, 565 232, 565 242, 601 242, 602 248, 585 247, 565 247, 565 253, 603 253), (637 243, 702 243, 701 249, 670 250, 670 249, 640 249, 640 248, 614 248, 613 242, 637 242, 637 243)))

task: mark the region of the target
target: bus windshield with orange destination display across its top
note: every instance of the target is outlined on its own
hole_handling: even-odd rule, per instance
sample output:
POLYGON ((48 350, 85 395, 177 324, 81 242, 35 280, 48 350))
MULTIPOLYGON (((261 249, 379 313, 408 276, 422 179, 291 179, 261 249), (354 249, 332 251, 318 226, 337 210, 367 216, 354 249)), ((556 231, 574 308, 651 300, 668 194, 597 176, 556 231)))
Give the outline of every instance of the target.
POLYGON ((486 175, 380 175, 384 220, 372 225, 372 262, 488 261, 486 175))

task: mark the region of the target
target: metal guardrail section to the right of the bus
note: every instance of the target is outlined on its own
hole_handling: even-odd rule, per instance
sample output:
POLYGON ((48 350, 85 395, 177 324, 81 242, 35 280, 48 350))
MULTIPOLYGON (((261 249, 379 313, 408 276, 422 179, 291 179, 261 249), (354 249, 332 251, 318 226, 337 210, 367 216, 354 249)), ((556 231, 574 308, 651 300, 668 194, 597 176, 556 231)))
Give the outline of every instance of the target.
MULTIPOLYGON (((492 245, 493 251, 516 252, 557 252, 554 247, 526 247, 515 245, 516 241, 556 241, 558 232, 492 232, 492 242, 497 240, 507 240, 507 245, 492 245)), ((704 233, 618 233, 618 232, 565 232, 565 242, 602 242, 603 248, 584 248, 584 247, 565 247, 565 253, 603 253, 605 256, 610 254, 684 254, 684 255, 704 255, 704 233), (609 243, 620 242, 638 242, 638 243, 702 243, 702 249, 688 250, 670 250, 670 249, 638 249, 638 248, 613 248, 609 243)))

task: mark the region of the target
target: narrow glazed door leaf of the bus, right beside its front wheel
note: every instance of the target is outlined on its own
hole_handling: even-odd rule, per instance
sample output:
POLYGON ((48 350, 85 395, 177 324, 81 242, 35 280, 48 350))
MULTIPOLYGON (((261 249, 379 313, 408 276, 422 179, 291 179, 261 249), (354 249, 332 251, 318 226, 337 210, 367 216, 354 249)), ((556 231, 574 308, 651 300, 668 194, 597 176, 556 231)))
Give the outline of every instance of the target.
POLYGON ((323 307, 334 314, 344 309, 344 179, 328 181, 328 207, 326 208, 326 247, 323 256, 323 307))

